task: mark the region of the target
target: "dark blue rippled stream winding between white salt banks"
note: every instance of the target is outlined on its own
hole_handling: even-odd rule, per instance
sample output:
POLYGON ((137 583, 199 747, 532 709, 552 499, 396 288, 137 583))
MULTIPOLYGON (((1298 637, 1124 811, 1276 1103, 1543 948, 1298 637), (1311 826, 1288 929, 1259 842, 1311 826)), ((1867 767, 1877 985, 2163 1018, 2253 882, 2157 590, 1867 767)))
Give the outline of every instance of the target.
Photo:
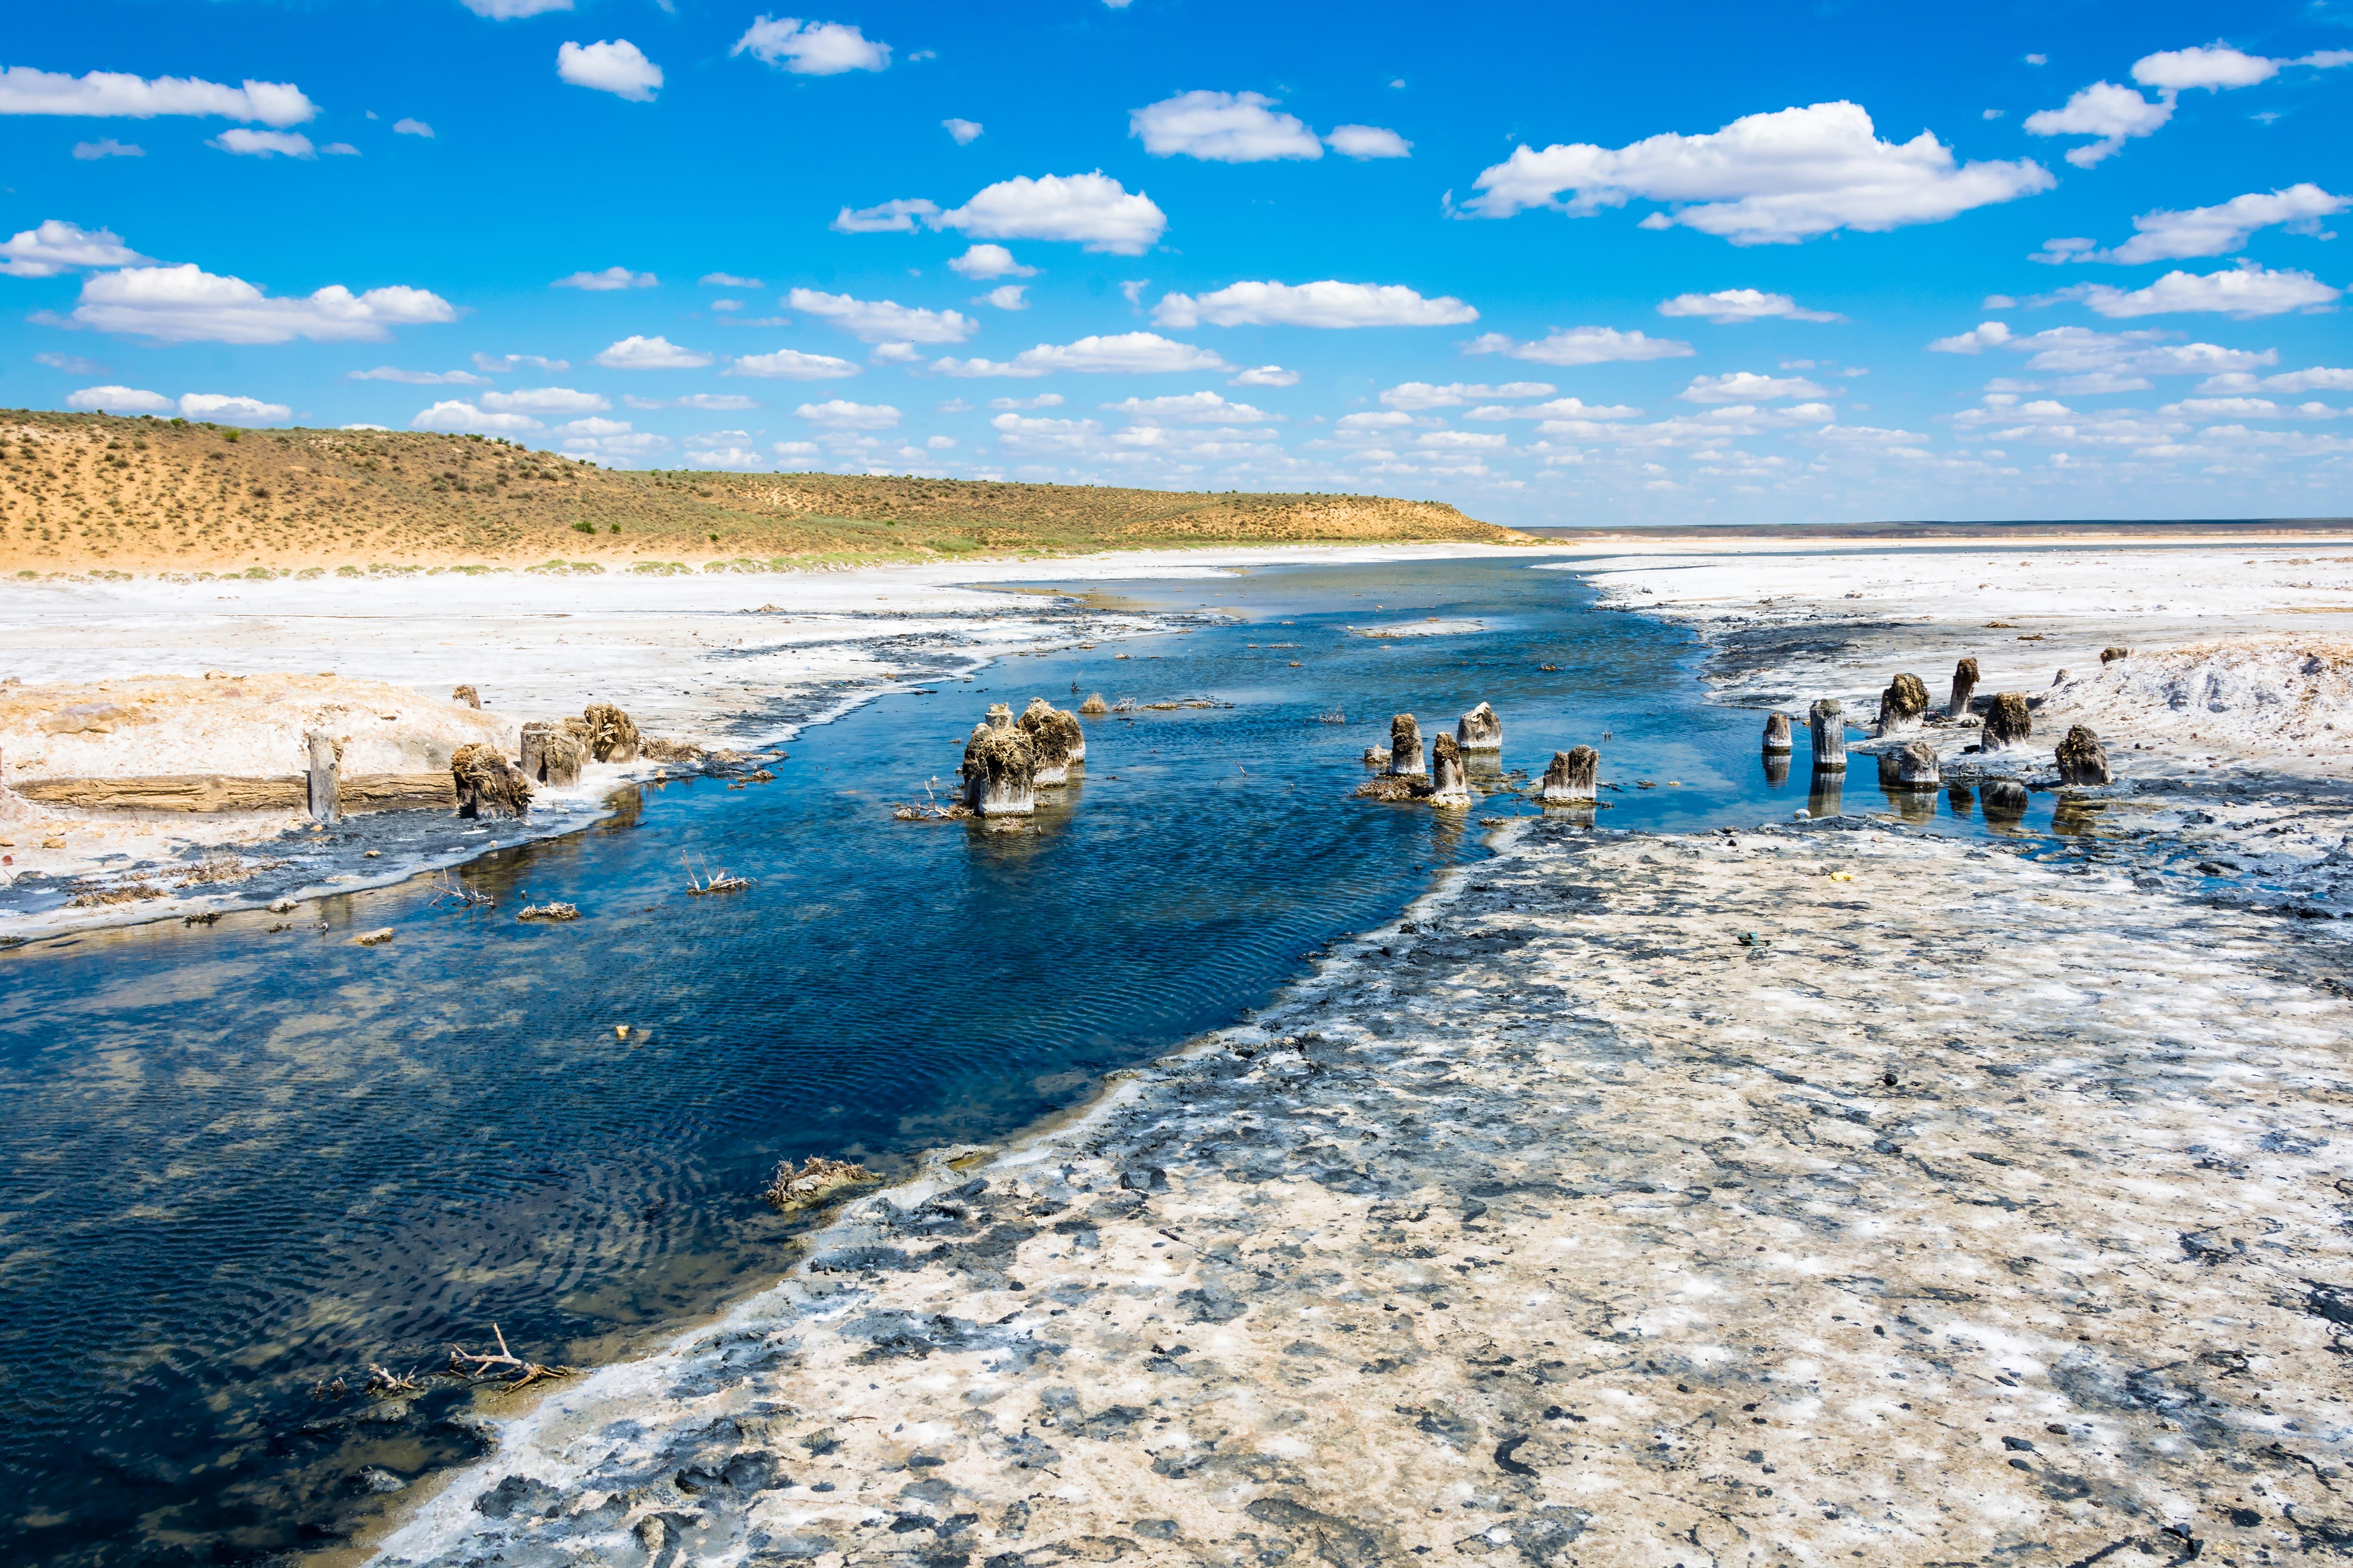
MULTIPOLYGON (((1494 703, 1506 769, 1600 745, 1614 827, 1807 804, 1802 773, 1762 776, 1755 715, 1699 701, 1685 632, 1595 611, 1562 571, 1089 588, 1235 618, 882 698, 807 731, 774 783, 631 790, 584 835, 459 872, 489 914, 405 884, 0 954, 9 1556, 339 1540, 372 1500, 360 1472, 475 1446, 456 1389, 374 1403, 334 1380, 435 1366, 492 1321, 536 1359, 626 1354, 774 1279, 774 1161, 894 1168, 998 1138, 1233 1020, 1480 856, 1480 816, 1527 811, 1348 799, 1400 708, 1431 736, 1494 703), (1426 616, 1480 628, 1348 630, 1426 616), (986 703, 1085 691, 1224 705, 1089 719, 1082 783, 1021 830, 889 820, 953 778, 986 703), (758 886, 689 898, 682 856, 758 886), (518 924, 525 893, 584 919, 518 924), (374 926, 395 940, 351 943, 374 926)), ((1849 795, 1882 809, 1868 778, 1849 795)))

